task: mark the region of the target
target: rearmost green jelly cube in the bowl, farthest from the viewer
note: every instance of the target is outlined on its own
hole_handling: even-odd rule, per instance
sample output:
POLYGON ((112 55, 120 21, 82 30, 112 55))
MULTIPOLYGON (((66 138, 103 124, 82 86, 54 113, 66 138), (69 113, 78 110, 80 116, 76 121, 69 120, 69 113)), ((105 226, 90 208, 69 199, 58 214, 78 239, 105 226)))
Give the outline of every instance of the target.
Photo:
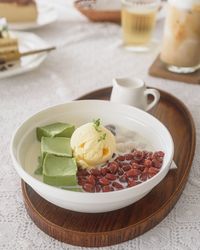
POLYGON ((43 136, 45 137, 67 137, 70 138, 75 130, 75 126, 68 124, 57 122, 44 127, 37 128, 37 138, 41 141, 43 136))

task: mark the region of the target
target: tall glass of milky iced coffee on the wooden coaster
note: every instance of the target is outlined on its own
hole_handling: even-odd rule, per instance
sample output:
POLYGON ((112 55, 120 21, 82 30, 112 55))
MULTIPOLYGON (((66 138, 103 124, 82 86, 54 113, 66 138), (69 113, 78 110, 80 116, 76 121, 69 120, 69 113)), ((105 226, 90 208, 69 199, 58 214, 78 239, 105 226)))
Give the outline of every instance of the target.
POLYGON ((160 58, 175 73, 200 68, 200 0, 169 0, 160 58))

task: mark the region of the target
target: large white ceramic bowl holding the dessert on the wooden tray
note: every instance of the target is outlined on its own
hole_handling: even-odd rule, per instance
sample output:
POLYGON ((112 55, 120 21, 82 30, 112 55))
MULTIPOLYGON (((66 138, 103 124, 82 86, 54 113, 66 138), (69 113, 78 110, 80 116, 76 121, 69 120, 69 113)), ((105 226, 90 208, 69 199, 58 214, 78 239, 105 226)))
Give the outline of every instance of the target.
POLYGON ((119 209, 144 197, 166 176, 173 154, 171 135, 156 118, 128 105, 99 100, 75 101, 43 110, 25 121, 14 133, 11 142, 11 155, 16 171, 39 195, 57 206, 89 213, 119 209), (101 118, 104 124, 117 124, 136 131, 145 136, 155 150, 164 151, 160 172, 138 186, 108 193, 67 191, 36 179, 33 172, 37 168, 37 157, 40 154, 36 127, 58 121, 78 126, 94 118, 101 118))

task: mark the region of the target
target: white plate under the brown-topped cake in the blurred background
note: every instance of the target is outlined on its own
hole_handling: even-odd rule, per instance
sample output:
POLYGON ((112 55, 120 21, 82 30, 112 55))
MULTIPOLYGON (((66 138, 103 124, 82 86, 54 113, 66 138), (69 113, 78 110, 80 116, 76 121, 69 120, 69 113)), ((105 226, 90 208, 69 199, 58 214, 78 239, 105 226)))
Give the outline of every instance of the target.
POLYGON ((38 6, 38 18, 35 22, 21 22, 21 23, 9 23, 9 29, 11 30, 29 30, 38 29, 45 25, 55 22, 58 18, 57 11, 54 5, 43 2, 37 3, 38 6))

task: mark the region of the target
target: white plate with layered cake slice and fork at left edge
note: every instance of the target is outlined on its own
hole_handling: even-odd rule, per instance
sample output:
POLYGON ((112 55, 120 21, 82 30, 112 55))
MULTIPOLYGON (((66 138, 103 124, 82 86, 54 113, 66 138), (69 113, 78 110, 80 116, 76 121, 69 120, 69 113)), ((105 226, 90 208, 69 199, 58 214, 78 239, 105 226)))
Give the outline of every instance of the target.
MULTIPOLYGON (((18 38, 20 52, 29 50, 42 49, 49 47, 43 39, 29 32, 11 32, 18 38)), ((47 53, 40 53, 22 57, 19 62, 7 63, 5 66, 0 65, 0 79, 23 74, 37 68, 47 57, 47 53)))

